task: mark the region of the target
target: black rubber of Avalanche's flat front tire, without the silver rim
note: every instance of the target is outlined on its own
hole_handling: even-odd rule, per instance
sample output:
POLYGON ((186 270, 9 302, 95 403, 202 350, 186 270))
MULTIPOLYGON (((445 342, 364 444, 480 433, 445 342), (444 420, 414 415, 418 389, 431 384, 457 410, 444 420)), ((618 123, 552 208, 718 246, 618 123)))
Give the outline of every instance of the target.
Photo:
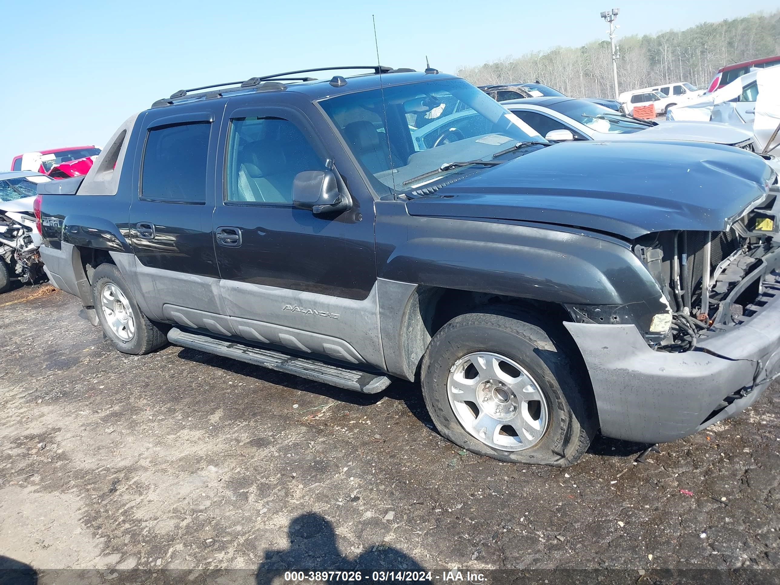
POLYGON ((485 307, 455 317, 434 335, 423 359, 428 412, 445 438, 471 452, 511 463, 571 465, 587 450, 596 428, 587 374, 579 360, 569 360, 570 349, 562 332, 515 307, 485 307), (470 355, 505 356, 534 380, 548 420, 529 447, 499 449, 497 442, 512 441, 484 441, 459 421, 448 379, 456 363, 470 355))

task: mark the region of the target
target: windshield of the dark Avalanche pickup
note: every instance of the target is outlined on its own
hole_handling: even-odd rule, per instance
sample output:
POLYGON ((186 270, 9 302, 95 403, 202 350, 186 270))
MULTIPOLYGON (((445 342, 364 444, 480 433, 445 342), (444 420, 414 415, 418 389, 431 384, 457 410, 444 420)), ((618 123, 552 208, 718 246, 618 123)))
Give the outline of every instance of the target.
POLYGON ((448 169, 410 182, 451 162, 490 161, 513 144, 545 142, 464 80, 360 91, 325 99, 320 105, 380 193, 413 190, 458 172, 448 169))

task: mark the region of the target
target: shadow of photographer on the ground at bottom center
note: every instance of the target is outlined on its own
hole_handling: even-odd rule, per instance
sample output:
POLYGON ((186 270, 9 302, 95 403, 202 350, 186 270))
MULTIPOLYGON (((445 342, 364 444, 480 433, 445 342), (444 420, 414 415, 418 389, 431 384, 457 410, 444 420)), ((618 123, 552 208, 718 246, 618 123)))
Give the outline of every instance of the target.
MULTIPOLYGON (((356 558, 347 558, 339 551, 336 534, 330 520, 315 512, 294 518, 287 528, 289 548, 267 551, 257 567, 257 585, 277 585, 289 582, 285 573, 338 571, 362 573, 363 583, 373 583, 373 571, 425 571, 414 558, 385 544, 370 546, 356 558)), ((341 580, 345 580, 342 577, 341 580)), ((353 578, 354 580, 354 578, 353 578)), ((324 579, 328 581, 328 579, 324 579)), ((332 580, 331 580, 332 581, 332 580)), ((315 583, 317 581, 314 581, 315 583)))

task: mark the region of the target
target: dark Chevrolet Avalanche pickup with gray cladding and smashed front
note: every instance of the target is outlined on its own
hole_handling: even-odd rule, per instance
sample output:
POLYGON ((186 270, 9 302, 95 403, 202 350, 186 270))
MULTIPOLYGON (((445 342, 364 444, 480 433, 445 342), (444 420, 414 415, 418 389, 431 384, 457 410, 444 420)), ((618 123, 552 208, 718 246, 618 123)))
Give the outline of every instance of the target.
POLYGON ((599 431, 695 433, 778 376, 761 156, 550 144, 435 69, 330 69, 359 73, 178 91, 41 186, 51 282, 116 349, 419 380, 450 441, 556 466, 599 431))

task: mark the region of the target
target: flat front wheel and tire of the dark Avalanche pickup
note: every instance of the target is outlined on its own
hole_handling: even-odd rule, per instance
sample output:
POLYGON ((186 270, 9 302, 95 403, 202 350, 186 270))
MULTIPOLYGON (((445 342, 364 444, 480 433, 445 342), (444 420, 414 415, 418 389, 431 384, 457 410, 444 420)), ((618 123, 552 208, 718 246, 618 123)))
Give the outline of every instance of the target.
POLYGON ((515 307, 455 317, 423 359, 428 412, 445 438, 471 452, 569 466, 596 431, 587 373, 567 356, 572 350, 563 332, 515 307))

